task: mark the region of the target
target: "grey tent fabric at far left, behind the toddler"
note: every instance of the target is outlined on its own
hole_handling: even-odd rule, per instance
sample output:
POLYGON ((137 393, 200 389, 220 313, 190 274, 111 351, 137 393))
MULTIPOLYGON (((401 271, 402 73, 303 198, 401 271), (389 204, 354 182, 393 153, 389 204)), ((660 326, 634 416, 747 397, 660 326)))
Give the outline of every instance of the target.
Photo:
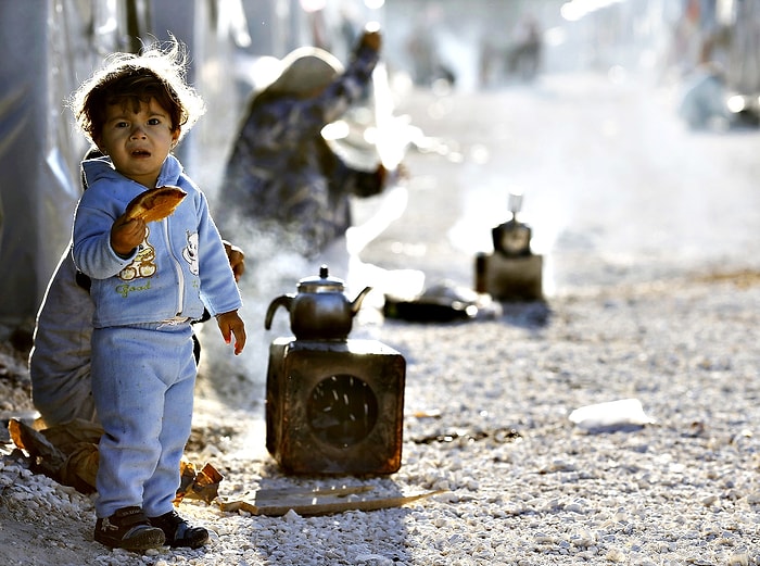
POLYGON ((64 103, 94 60, 97 15, 75 0, 0 2, 2 319, 36 313, 71 235, 87 147, 64 103))

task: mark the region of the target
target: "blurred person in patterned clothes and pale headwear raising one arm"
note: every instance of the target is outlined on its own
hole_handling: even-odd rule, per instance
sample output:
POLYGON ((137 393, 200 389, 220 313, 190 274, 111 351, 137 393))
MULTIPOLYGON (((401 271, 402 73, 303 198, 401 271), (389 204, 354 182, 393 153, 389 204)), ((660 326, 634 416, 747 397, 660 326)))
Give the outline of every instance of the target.
POLYGON ((252 95, 217 206, 223 229, 255 234, 258 257, 267 254, 258 244, 266 241, 278 255, 317 260, 334 251, 347 257, 350 197, 378 194, 388 172, 381 164, 352 168, 321 130, 366 97, 380 47, 380 33, 365 29, 345 70, 327 51, 296 49, 282 61, 281 74, 252 95))

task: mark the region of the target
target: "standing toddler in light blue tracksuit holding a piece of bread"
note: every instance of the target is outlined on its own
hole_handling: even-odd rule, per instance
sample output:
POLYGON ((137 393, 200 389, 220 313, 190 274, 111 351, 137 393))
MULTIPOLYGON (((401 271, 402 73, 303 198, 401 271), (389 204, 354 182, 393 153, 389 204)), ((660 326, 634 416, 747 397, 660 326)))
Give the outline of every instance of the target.
POLYGON ((204 111, 185 81, 174 39, 117 53, 72 99, 77 124, 104 155, 85 160, 73 257, 92 280, 92 395, 100 440, 94 539, 143 551, 198 548, 208 539, 175 511, 190 436, 195 360, 190 323, 204 306, 242 352, 240 293, 206 197, 172 150, 204 111), (175 212, 145 224, 127 204, 154 187, 187 192, 175 212))

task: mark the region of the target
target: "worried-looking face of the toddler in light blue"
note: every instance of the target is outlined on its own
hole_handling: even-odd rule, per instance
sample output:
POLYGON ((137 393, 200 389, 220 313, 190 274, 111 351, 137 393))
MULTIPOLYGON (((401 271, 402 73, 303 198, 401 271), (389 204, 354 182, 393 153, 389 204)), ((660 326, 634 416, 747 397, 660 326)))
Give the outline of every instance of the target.
POLYGON ((138 112, 131 102, 109 104, 98 147, 117 172, 152 189, 178 138, 168 113, 152 98, 138 112))

